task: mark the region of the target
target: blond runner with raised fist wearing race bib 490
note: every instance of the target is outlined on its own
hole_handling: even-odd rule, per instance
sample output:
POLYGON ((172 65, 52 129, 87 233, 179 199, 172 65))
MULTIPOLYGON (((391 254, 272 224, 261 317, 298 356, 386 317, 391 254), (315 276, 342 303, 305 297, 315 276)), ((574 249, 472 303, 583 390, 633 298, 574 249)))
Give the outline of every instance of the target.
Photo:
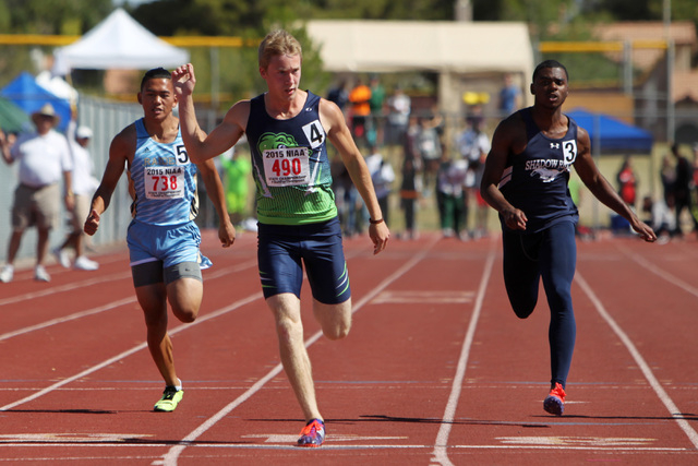
POLYGON ((303 266, 313 294, 313 314, 329 339, 351 327, 349 275, 341 246, 326 141, 333 143, 371 216, 373 252, 385 249, 390 232, 383 220, 371 172, 336 104, 299 88, 302 50, 286 31, 262 40, 260 74, 267 92, 240 100, 210 134, 198 127, 191 64, 172 72, 180 96, 182 138, 195 162, 230 148, 245 134, 256 183, 260 279, 274 313, 284 370, 305 417, 299 446, 320 446, 325 423, 315 399, 303 344, 300 290, 303 266))

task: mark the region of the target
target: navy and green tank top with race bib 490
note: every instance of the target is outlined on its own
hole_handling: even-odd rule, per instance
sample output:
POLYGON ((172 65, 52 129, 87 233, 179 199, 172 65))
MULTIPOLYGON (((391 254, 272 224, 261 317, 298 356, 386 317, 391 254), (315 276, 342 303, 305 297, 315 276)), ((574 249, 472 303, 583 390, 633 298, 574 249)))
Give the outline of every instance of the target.
POLYGON ((245 133, 261 223, 302 225, 337 216, 318 96, 309 92, 303 109, 288 120, 269 117, 264 94, 253 98, 245 133))

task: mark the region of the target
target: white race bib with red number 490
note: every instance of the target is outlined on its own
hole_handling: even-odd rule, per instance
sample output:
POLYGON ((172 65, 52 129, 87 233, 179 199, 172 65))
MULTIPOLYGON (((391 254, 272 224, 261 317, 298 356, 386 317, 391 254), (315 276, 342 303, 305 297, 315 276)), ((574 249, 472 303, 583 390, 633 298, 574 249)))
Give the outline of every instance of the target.
POLYGON ((266 150, 264 176, 269 187, 310 184, 308 147, 279 147, 266 150))

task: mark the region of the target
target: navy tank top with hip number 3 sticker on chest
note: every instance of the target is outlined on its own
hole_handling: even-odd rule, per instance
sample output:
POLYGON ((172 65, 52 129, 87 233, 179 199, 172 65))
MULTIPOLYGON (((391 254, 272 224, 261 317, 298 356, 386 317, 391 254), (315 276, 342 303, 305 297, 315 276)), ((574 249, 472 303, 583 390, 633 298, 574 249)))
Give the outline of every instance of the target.
POLYGON ((577 159, 577 123, 567 117, 565 135, 551 139, 533 121, 530 107, 519 112, 526 122, 527 144, 520 154, 509 153, 498 184, 502 194, 528 217, 525 232, 538 232, 557 222, 576 223, 579 214, 567 182, 569 167, 577 159))

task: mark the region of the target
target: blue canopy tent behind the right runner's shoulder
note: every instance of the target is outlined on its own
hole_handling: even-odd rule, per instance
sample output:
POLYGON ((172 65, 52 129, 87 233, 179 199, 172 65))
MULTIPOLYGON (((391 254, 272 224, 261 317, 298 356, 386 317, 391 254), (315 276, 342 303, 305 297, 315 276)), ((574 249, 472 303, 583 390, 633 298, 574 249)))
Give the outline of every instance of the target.
POLYGON ((566 112, 578 126, 589 132, 594 154, 650 154, 652 133, 604 113, 592 113, 583 108, 566 112), (598 146, 597 146, 598 145, 598 146))

